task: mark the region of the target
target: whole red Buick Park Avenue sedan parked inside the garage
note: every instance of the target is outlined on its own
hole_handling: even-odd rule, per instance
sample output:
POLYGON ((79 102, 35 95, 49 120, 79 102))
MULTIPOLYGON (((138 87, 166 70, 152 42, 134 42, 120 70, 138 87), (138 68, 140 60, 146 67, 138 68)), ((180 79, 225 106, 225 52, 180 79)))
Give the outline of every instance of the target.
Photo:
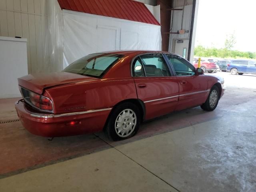
POLYGON ((113 140, 136 134, 143 120, 201 106, 212 111, 224 80, 159 51, 90 54, 62 72, 18 79, 16 102, 32 134, 57 137, 104 130, 113 140))

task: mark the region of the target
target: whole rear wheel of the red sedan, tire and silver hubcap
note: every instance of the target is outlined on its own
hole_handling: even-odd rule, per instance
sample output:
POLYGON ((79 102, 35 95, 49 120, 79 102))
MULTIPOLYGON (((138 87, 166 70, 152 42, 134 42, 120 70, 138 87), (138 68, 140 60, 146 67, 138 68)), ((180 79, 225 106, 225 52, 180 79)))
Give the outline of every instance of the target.
POLYGON ((140 125, 140 110, 130 102, 122 103, 110 114, 105 132, 108 138, 116 141, 132 137, 140 125))

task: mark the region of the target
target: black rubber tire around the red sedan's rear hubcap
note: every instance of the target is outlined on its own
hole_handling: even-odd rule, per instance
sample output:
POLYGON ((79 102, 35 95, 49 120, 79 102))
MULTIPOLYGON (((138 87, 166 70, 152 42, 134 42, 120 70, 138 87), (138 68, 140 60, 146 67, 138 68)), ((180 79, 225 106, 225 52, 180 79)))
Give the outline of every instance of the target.
POLYGON ((124 139, 134 136, 138 132, 140 122, 141 122, 141 113, 140 113, 139 108, 133 103, 125 102, 125 103, 122 103, 113 108, 112 112, 110 113, 110 116, 109 116, 109 119, 108 119, 108 122, 106 124, 106 128, 104 131, 105 131, 106 135, 108 136, 108 138, 110 138, 113 141, 124 140, 124 139), (124 119, 122 120, 122 122, 120 122, 120 124, 121 124, 120 129, 122 130, 122 132, 129 131, 128 129, 124 130, 124 128, 123 128, 123 126, 127 125, 127 126, 132 127, 132 130, 130 130, 130 132, 128 132, 127 134, 120 136, 120 134, 122 134, 122 132, 120 132, 120 134, 118 135, 118 133, 116 131, 116 125, 118 125, 118 122, 116 122, 116 120, 119 117, 120 113, 123 112, 124 110, 130 110, 130 112, 131 112, 130 114, 132 114, 132 112, 135 113, 134 117, 136 118, 136 123, 135 123, 135 125, 126 124, 129 122, 134 123, 134 120, 132 120, 132 118, 129 119, 128 116, 125 116, 124 119))

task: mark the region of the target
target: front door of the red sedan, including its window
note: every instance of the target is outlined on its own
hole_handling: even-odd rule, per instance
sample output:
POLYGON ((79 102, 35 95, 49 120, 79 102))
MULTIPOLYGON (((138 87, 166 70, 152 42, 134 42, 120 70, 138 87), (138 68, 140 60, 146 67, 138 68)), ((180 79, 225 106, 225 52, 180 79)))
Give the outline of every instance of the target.
POLYGON ((203 104, 210 92, 205 75, 197 75, 196 69, 184 58, 166 54, 179 84, 179 101, 176 110, 203 104))

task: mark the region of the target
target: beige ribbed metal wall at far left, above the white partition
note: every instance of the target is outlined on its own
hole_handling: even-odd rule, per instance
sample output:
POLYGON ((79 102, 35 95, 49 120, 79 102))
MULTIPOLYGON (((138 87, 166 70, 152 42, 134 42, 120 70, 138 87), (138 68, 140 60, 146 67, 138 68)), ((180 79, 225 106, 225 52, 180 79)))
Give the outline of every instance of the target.
POLYGON ((0 36, 28 39, 28 72, 44 63, 46 0, 0 0, 0 36))

